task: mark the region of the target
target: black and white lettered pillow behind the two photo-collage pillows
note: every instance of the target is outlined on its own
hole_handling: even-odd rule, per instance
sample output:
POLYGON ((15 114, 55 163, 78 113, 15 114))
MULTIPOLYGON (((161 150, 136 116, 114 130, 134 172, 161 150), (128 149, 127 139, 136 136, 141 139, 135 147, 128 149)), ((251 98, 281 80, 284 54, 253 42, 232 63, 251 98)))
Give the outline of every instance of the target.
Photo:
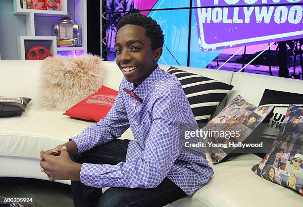
POLYGON ((264 141, 270 142, 270 145, 278 136, 289 104, 303 106, 303 94, 265 89, 259 106, 275 106, 269 124, 261 134, 261 138, 264 141))

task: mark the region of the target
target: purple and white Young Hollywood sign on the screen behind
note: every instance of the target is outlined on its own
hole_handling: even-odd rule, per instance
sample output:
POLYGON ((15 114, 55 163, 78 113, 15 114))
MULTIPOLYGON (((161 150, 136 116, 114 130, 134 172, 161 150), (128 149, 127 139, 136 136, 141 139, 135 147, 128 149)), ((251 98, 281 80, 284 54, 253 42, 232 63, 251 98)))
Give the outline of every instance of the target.
POLYGON ((202 51, 303 38, 303 0, 194 3, 202 51))

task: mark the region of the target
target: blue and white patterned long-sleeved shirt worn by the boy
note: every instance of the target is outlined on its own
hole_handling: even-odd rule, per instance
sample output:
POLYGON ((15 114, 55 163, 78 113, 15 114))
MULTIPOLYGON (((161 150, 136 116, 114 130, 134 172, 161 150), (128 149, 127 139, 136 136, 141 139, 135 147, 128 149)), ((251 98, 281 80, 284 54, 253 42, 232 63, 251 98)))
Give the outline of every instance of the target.
MULTIPOLYGON (((203 151, 182 146, 180 124, 197 125, 190 104, 176 76, 159 66, 138 87, 123 78, 119 94, 107 116, 70 139, 78 153, 120 137, 131 127, 126 162, 116 165, 83 163, 80 181, 96 188, 154 188, 167 177, 191 196, 213 175, 203 151), (123 88, 134 90, 140 103, 123 88), (180 142, 181 141, 181 142, 180 142)), ((184 139, 184 138, 183 138, 184 139)))

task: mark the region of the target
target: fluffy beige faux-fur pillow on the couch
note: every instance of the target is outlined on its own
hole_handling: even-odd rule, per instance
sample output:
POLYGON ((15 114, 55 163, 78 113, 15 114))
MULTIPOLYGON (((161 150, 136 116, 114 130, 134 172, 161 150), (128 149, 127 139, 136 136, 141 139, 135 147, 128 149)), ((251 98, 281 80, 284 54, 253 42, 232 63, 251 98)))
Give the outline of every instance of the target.
POLYGON ((99 90, 101 74, 99 56, 46 58, 42 65, 40 107, 65 111, 99 90))

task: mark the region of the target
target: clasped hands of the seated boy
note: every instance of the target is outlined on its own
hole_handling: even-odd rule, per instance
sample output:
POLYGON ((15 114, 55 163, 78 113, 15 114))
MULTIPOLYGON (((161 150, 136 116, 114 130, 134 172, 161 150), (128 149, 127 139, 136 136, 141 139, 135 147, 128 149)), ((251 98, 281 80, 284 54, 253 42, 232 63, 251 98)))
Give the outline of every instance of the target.
POLYGON ((59 145, 46 152, 40 152, 41 172, 48 175, 50 181, 54 180, 80 180, 82 164, 73 162, 67 152, 66 146, 59 145))

